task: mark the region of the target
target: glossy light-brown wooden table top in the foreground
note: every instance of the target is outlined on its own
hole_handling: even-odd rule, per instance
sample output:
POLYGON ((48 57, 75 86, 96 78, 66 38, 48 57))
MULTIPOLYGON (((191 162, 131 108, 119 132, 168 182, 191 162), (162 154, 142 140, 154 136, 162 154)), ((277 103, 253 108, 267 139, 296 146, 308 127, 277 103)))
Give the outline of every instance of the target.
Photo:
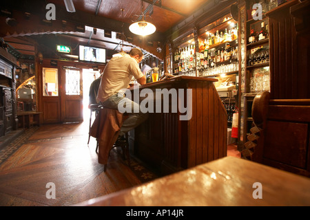
POLYGON ((309 186, 307 177, 224 157, 77 206, 310 206, 309 186))

